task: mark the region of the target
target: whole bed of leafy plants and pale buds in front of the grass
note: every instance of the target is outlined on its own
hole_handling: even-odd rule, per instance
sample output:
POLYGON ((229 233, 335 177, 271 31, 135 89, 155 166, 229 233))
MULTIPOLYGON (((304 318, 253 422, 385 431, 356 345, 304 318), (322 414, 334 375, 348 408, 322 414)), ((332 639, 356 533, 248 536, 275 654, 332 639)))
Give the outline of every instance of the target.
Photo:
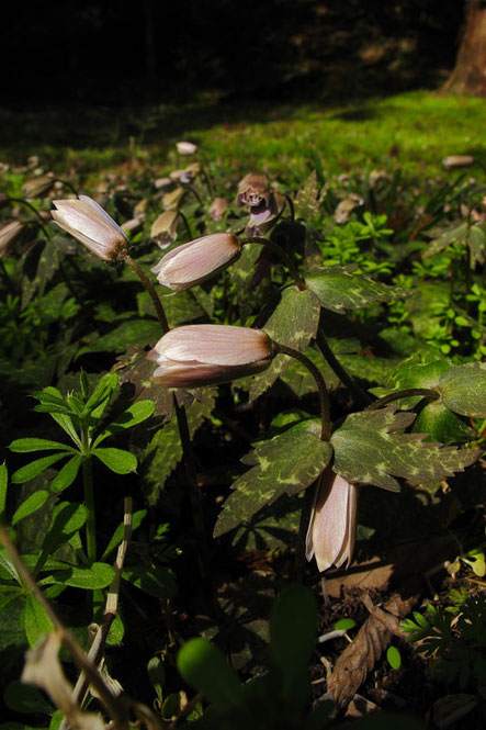
POLYGON ((481 720, 479 136, 326 122, 3 165, 0 727, 481 720))

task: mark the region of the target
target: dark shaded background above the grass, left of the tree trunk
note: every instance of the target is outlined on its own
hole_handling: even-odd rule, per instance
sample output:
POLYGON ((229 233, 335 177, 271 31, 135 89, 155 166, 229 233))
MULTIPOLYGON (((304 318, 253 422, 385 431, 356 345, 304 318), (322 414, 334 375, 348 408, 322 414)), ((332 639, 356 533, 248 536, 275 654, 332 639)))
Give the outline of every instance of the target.
POLYGON ((457 0, 104 0, 9 3, 3 103, 325 99, 439 86, 457 0))

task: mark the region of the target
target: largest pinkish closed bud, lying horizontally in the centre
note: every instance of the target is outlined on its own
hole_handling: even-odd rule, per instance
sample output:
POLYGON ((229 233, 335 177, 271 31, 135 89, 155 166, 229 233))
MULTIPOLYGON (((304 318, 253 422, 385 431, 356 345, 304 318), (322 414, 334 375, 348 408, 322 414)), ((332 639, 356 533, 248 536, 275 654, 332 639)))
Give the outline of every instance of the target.
POLYGON ((264 332, 229 325, 188 325, 168 332, 148 353, 152 380, 167 388, 199 388, 261 372, 272 340, 264 332))

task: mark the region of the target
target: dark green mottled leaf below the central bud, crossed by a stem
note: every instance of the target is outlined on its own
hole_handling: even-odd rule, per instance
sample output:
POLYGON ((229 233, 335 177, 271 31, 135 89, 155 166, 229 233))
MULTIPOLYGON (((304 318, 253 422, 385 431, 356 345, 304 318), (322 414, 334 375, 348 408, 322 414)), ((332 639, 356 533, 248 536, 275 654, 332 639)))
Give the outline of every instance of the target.
MULTIPOLYGON (((202 400, 194 401, 187 409, 191 438, 211 416, 214 408, 215 389, 204 389, 202 400)), ((140 478, 145 498, 149 505, 155 505, 163 488, 167 478, 182 459, 182 446, 177 419, 160 428, 150 443, 140 454, 140 478)))

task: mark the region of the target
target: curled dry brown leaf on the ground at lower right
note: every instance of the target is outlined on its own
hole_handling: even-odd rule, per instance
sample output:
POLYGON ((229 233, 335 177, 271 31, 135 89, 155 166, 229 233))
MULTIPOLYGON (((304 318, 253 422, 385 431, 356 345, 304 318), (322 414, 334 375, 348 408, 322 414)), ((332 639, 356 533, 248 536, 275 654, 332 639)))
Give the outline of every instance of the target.
MULTIPOLYGON (((399 593, 384 605, 388 614, 404 618, 418 603, 420 595, 416 587, 405 597, 399 593)), ((392 639, 392 632, 382 622, 383 616, 371 615, 336 662, 335 671, 327 683, 328 690, 340 706, 348 705, 366 674, 373 669, 392 639)))

